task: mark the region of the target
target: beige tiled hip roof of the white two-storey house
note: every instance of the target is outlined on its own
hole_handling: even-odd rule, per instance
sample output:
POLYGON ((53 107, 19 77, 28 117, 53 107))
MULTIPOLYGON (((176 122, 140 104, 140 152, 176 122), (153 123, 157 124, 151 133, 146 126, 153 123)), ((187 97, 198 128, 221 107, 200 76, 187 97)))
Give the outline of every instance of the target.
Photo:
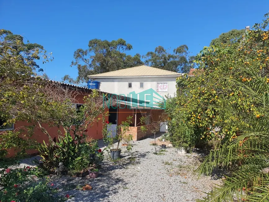
POLYGON ((125 76, 179 76, 181 73, 167 71, 163 69, 158 69, 155 67, 149 67, 146 65, 141 65, 138 67, 131 67, 116 71, 105 72, 101 74, 89 75, 89 78, 96 77, 125 77, 125 76))

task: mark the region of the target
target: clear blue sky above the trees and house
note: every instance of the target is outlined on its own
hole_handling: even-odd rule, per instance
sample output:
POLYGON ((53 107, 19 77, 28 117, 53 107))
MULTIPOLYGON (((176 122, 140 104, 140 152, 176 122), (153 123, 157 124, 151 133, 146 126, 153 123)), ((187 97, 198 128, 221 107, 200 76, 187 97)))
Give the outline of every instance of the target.
POLYGON ((221 33, 260 22, 269 1, 258 4, 255 8, 253 0, 0 0, 0 28, 23 34, 52 52, 54 61, 40 66, 51 79, 61 80, 65 74, 77 76, 77 69, 70 67, 73 53, 86 49, 90 39, 123 38, 133 46, 131 55, 182 44, 195 55, 221 33))

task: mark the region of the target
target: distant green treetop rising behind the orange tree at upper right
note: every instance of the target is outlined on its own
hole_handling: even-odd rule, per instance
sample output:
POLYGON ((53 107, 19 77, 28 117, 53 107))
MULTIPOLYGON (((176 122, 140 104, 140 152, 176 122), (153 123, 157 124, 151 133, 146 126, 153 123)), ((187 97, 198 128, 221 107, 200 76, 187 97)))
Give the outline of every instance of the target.
POLYGON ((221 44, 231 44, 235 42, 240 36, 244 34, 245 30, 231 30, 219 35, 218 38, 212 39, 210 46, 221 45, 221 44))

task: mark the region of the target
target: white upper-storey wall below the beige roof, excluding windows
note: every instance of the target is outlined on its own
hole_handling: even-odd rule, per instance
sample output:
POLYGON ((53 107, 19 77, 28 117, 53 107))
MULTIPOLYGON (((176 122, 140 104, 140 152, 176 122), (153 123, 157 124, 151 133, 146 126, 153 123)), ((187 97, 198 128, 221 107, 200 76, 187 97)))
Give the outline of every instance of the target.
POLYGON ((168 82, 168 92, 157 92, 161 96, 176 93, 176 76, 160 76, 160 77, 130 77, 130 78, 95 78, 100 81, 100 90, 114 93, 124 94, 127 96, 132 91, 140 93, 144 90, 152 88, 157 92, 157 82, 168 82), (128 83, 132 82, 132 88, 128 88, 128 83), (144 82, 144 88, 139 88, 140 82, 144 82))

